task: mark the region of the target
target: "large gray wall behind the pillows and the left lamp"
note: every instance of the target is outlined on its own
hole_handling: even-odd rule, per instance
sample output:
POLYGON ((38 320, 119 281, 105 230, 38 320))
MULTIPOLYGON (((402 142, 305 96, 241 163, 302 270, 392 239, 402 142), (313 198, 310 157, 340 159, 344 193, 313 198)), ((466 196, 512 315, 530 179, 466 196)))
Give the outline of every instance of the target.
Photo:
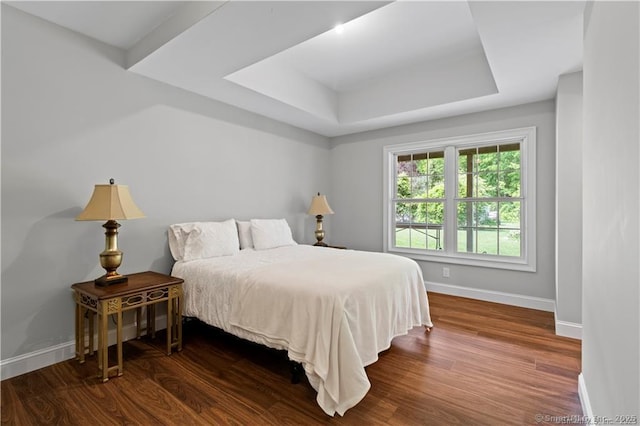
POLYGON ((147 216, 122 222, 122 273, 169 272, 175 222, 285 217, 314 241, 306 209, 328 189, 326 138, 128 73, 123 59, 2 5, 3 360, 73 340, 70 285, 104 273, 101 223, 74 218, 111 177, 147 216))

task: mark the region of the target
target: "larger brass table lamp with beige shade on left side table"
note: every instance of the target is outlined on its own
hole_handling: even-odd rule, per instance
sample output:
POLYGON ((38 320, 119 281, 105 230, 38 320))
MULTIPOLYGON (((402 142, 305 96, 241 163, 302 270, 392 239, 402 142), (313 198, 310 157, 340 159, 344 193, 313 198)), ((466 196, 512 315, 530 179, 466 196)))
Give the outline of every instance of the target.
POLYGON ((144 217, 138 206, 133 202, 129 187, 114 185, 113 179, 109 185, 96 185, 89 204, 76 220, 106 220, 102 225, 106 229, 104 251, 100 253, 100 265, 107 271, 105 275, 95 280, 96 285, 107 286, 127 281, 125 275, 116 270, 122 263, 122 252, 118 250, 118 228, 116 220, 138 219, 144 217))

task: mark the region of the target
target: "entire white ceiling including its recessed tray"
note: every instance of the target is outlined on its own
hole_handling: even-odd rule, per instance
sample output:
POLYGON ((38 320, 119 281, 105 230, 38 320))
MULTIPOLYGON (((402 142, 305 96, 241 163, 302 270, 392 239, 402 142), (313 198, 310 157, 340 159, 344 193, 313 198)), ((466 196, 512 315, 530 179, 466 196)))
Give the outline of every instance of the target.
POLYGON ((582 69, 582 1, 6 3, 125 50, 131 72, 329 137, 551 99, 582 69))

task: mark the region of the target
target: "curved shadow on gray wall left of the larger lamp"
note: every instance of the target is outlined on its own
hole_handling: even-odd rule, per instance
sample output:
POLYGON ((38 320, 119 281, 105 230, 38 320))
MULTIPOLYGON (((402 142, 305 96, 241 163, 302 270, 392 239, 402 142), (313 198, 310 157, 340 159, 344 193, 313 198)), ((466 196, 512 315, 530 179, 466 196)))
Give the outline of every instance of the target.
MULTIPOLYGON (((73 336, 70 286, 91 274, 98 253, 76 244, 92 241, 94 232, 76 226, 73 220, 80 211, 66 209, 37 221, 15 259, 3 268, 3 359, 65 343, 73 336)), ((10 251, 3 247, 3 253, 10 251)))

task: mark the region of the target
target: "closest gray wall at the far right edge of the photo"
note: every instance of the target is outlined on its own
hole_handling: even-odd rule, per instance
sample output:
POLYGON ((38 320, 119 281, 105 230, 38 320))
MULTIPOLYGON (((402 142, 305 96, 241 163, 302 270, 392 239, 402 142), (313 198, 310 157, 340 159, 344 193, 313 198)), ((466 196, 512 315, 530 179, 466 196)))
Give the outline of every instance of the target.
POLYGON ((612 419, 640 415, 639 28, 637 2, 587 6, 582 374, 612 419))

